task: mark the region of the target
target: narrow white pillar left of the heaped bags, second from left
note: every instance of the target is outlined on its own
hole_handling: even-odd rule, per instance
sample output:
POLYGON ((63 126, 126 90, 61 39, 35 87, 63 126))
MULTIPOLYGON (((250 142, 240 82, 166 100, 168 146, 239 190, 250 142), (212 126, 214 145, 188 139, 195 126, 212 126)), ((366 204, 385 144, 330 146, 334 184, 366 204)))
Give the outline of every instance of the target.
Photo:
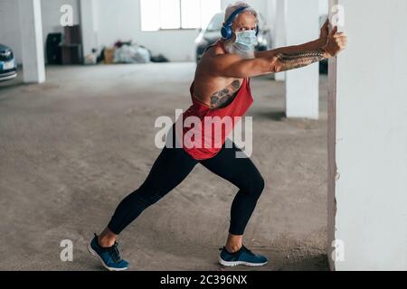
POLYGON ((99 48, 96 5, 95 0, 80 0, 80 29, 84 59, 92 49, 99 48))

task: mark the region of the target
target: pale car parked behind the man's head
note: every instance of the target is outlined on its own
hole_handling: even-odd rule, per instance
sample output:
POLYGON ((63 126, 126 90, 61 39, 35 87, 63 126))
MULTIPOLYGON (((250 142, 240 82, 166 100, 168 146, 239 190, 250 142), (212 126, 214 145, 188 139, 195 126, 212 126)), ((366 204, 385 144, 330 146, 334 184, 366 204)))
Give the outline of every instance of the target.
MULTIPOLYGON (((199 62, 204 55, 205 49, 222 37, 221 29, 224 22, 224 14, 214 14, 210 23, 199 33, 195 40, 196 45, 196 62, 199 62)), ((267 51, 271 48, 271 31, 264 21, 264 18, 259 14, 259 35, 257 51, 267 51)))

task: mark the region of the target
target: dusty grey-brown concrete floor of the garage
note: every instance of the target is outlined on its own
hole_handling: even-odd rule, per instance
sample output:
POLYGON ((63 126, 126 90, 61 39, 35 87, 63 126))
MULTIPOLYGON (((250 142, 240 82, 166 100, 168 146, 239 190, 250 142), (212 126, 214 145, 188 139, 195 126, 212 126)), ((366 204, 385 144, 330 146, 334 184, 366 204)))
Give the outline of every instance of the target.
MULTIPOLYGON (((86 243, 147 177, 156 117, 189 107, 193 76, 194 63, 48 67, 43 85, 0 83, 0 269, 100 270, 86 243)), ((252 160, 267 185, 244 243, 269 256, 258 270, 327 270, 326 77, 320 86, 312 121, 283 117, 283 83, 251 82, 252 160)), ((230 270, 217 256, 236 192, 198 165, 120 237, 131 269, 230 270)))

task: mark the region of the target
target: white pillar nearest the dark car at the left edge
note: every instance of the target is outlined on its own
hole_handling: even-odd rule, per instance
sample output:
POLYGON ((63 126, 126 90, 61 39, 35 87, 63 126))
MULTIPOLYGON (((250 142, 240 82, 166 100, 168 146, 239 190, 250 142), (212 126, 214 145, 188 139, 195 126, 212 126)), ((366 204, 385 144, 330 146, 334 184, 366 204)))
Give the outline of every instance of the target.
POLYGON ((24 82, 43 83, 43 22, 41 0, 19 0, 24 82))

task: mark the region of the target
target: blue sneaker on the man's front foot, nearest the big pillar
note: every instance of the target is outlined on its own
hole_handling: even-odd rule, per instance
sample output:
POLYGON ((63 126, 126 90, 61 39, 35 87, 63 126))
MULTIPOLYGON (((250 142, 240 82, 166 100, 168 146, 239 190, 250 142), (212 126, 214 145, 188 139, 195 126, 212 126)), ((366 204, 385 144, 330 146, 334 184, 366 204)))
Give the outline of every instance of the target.
POLYGON ((265 266, 269 263, 269 260, 265 256, 256 255, 244 246, 234 254, 229 253, 225 247, 219 250, 222 250, 221 256, 219 256, 219 263, 222 266, 232 267, 244 265, 258 267, 265 266))

